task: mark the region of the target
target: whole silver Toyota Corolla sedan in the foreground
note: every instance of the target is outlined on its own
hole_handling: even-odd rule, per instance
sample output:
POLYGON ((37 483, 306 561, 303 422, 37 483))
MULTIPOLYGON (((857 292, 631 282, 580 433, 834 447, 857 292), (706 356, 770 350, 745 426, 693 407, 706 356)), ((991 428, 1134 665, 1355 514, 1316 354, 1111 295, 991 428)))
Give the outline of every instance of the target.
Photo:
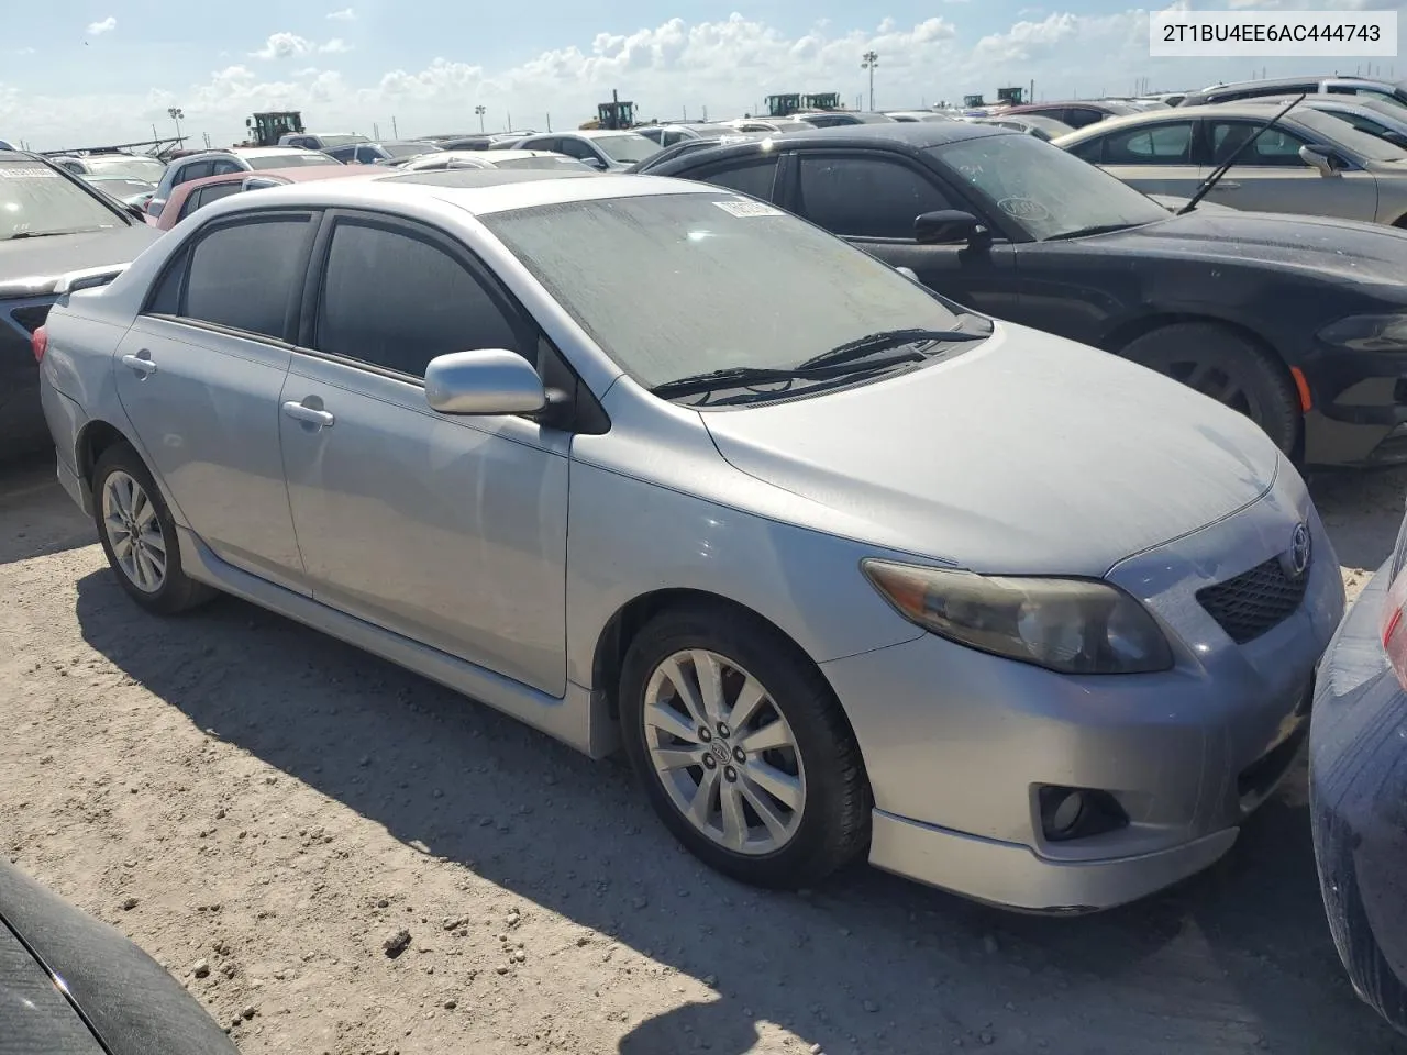
POLYGON ((623 746, 760 885, 865 854, 1074 912, 1196 872, 1344 608, 1248 419, 701 183, 234 196, 35 353, 138 603, 234 594, 623 746), (639 309, 684 300, 730 309, 639 309))

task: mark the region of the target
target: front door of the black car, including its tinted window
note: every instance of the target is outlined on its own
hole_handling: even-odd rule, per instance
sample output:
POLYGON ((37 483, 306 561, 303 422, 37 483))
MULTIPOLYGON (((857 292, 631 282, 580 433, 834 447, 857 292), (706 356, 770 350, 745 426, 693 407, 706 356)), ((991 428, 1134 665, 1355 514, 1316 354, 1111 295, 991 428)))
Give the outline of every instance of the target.
POLYGON ((998 318, 1017 312, 1016 255, 1010 243, 919 245, 913 221, 924 212, 971 203, 902 155, 875 151, 806 151, 791 155, 784 204, 958 304, 998 318))

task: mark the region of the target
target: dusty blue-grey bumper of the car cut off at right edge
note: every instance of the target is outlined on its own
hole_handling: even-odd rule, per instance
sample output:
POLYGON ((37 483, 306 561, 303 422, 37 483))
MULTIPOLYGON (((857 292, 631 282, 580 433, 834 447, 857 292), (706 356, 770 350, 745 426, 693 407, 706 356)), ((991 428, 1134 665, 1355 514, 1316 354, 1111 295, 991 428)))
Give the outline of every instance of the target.
POLYGON ((1407 693, 1377 636, 1390 575, 1384 564, 1320 663, 1310 819, 1338 955, 1358 995, 1407 1032, 1407 693))

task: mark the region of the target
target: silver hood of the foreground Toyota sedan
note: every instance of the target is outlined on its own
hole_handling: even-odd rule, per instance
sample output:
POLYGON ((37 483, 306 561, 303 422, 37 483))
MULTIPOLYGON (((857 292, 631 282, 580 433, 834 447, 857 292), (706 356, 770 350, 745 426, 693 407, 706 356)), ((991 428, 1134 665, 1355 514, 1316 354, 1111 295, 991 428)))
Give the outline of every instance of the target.
POLYGON ((734 468, 837 532, 982 573, 1103 575, 1256 501, 1280 460, 1176 381, 1006 324, 947 362, 701 416, 734 468))

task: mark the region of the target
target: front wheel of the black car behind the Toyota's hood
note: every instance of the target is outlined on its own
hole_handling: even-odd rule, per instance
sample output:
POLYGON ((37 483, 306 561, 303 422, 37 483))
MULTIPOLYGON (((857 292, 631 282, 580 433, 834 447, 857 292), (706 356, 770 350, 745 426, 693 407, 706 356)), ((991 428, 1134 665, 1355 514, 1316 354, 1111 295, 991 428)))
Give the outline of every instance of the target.
POLYGON ((1286 454, 1300 435, 1300 404, 1285 369, 1214 322, 1175 322, 1130 342, 1124 359, 1244 414, 1286 454))

